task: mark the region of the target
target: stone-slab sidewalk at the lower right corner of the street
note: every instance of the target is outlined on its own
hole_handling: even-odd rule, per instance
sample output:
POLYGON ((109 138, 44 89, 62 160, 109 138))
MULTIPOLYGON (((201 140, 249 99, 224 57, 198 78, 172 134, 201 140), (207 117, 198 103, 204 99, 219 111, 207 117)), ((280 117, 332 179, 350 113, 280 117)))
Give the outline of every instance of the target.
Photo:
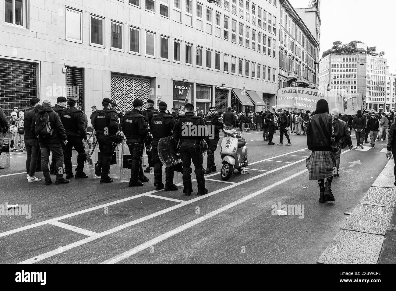
POLYGON ((318 264, 396 262, 394 181, 394 159, 390 159, 352 214, 345 215, 346 223, 318 264))

